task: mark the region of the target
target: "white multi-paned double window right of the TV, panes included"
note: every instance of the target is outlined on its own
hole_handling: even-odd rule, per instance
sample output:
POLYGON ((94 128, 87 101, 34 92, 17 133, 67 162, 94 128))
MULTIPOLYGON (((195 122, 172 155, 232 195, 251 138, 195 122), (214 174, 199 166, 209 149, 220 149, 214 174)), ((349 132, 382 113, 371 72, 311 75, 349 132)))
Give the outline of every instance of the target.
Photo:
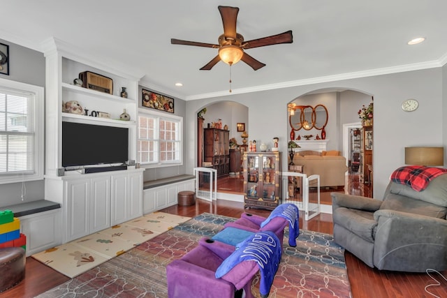
POLYGON ((158 113, 138 115, 137 161, 146 165, 182 163, 182 118, 158 113))

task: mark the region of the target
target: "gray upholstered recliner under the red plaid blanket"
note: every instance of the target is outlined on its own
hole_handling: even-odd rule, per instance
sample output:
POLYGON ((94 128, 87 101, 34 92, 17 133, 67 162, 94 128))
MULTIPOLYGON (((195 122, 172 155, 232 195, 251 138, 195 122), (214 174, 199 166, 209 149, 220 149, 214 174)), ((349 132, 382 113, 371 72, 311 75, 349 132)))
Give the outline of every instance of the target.
POLYGON ((390 182, 383 200, 331 195, 335 241, 369 267, 447 269, 447 174, 420 192, 390 182))

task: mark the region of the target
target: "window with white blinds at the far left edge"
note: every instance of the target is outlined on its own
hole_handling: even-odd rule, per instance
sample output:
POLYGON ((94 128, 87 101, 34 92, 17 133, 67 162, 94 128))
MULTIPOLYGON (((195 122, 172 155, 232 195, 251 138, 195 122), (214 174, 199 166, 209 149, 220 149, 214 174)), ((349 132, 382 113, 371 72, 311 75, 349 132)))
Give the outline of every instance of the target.
POLYGON ((10 89, 0 81, 0 183, 43 177, 43 88, 30 85, 10 89), (29 90, 31 89, 31 90, 29 90), (37 112, 41 114, 37 115, 37 112), (41 118, 41 121, 38 121, 41 118))

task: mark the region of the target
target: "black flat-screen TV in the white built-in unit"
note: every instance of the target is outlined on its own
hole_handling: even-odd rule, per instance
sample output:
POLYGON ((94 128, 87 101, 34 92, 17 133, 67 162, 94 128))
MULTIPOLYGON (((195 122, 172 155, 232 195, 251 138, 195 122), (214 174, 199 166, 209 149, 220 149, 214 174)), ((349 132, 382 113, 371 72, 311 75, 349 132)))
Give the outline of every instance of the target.
POLYGON ((129 128, 62 122, 62 166, 124 163, 129 128))

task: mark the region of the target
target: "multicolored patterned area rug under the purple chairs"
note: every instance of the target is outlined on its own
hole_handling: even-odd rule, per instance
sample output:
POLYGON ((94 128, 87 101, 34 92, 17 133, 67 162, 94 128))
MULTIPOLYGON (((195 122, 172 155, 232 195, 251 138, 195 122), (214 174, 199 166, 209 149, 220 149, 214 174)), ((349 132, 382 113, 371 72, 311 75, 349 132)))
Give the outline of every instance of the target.
MULTIPOLYGON (((166 265, 212 237, 235 218, 201 214, 38 297, 168 297, 166 265)), ((352 297, 344 249, 329 234, 301 230, 288 246, 269 297, 352 297)), ((251 287, 259 296, 260 276, 251 287)))

